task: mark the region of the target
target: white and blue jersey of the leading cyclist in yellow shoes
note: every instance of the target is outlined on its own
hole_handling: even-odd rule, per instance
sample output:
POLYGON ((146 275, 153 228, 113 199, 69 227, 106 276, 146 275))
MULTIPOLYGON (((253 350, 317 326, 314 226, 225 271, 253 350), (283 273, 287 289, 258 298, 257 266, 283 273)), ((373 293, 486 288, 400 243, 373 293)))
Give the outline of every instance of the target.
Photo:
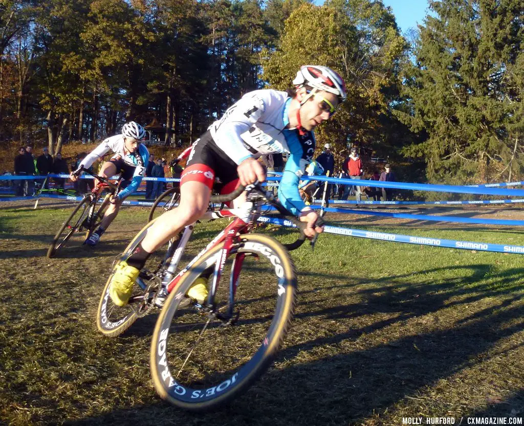
POLYGON ((276 90, 246 93, 224 116, 210 126, 216 145, 235 163, 249 157, 289 152, 282 174, 278 196, 292 214, 308 210, 298 191, 299 178, 313 158, 313 132, 300 135, 289 128, 288 110, 291 97, 276 90))

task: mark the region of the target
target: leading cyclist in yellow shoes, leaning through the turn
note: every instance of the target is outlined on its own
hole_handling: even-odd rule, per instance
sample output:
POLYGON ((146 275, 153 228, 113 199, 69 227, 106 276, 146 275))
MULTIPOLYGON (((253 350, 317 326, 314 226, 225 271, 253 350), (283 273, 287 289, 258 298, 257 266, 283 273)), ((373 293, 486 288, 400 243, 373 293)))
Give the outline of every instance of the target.
MULTIPOLYGON (((266 179, 257 161, 261 155, 289 152, 279 200, 307 224, 304 232, 308 237, 323 231, 315 227, 319 216, 300 198, 298 183, 313 157, 312 130, 329 119, 345 100, 345 84, 327 67, 304 65, 293 85, 292 95, 276 90, 245 94, 195 142, 181 177, 179 207, 160 216, 135 252, 117 265, 110 285, 110 297, 116 305, 123 306, 129 300, 149 255, 205 213, 215 178, 223 184, 222 193, 233 191, 238 182, 247 185, 266 179)), ((204 282, 197 280, 188 296, 203 301, 207 297, 204 282)))

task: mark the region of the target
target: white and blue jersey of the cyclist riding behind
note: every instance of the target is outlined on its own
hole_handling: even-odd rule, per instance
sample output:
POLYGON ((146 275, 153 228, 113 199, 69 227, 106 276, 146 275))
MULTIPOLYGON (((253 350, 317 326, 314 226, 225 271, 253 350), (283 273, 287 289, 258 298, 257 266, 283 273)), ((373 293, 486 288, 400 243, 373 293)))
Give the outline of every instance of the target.
POLYGON ((122 158, 122 160, 131 167, 135 168, 133 178, 126 189, 118 193, 118 199, 123 200, 129 194, 135 192, 146 174, 146 166, 149 161, 149 151, 144 144, 139 144, 135 152, 127 152, 124 146, 124 136, 115 135, 110 136, 102 141, 102 143, 93 149, 88 156, 86 156, 79 165, 88 169, 93 162, 102 158, 107 152, 113 151, 115 155, 113 158, 122 158))

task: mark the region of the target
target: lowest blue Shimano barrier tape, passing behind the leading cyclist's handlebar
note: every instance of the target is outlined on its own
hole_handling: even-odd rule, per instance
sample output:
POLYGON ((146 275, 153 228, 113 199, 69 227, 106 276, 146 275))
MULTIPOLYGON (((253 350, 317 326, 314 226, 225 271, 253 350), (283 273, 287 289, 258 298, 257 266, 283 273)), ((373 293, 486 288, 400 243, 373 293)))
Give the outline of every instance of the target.
MULTIPOLYGON (((296 225, 294 225, 290 221, 271 218, 267 216, 261 216, 259 217, 258 220, 264 223, 273 223, 273 224, 281 225, 281 226, 296 227, 296 225)), ((418 244, 418 245, 423 245, 423 246, 460 248, 463 250, 479 250, 482 252, 524 254, 524 246, 512 246, 512 245, 491 244, 491 243, 476 243, 473 241, 457 241, 454 239, 416 237, 416 236, 401 235, 401 234, 387 234, 384 232, 353 230, 351 228, 340 228, 340 227, 329 226, 329 225, 326 225, 324 227, 324 232, 328 234, 348 235, 352 237, 379 239, 381 241, 418 244)))

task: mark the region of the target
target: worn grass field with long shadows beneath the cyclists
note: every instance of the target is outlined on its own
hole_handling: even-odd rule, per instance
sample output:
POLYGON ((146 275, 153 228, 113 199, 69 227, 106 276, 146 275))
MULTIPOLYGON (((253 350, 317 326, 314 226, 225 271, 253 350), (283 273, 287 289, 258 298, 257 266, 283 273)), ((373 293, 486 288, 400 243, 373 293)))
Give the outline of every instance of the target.
MULTIPOLYGON (((156 313, 122 337, 96 330, 108 271, 147 209, 123 209, 96 249, 72 244, 47 259, 70 211, 0 205, 0 424, 392 425, 444 416, 458 424, 463 416, 524 416, 521 255, 322 235, 314 252, 307 245, 292 252, 298 307, 274 366, 230 406, 197 415, 167 405, 152 387, 156 313)), ((524 245, 512 228, 326 219, 524 245)), ((188 252, 221 226, 202 225, 188 252)), ((277 228, 263 232, 292 239, 277 228)))

